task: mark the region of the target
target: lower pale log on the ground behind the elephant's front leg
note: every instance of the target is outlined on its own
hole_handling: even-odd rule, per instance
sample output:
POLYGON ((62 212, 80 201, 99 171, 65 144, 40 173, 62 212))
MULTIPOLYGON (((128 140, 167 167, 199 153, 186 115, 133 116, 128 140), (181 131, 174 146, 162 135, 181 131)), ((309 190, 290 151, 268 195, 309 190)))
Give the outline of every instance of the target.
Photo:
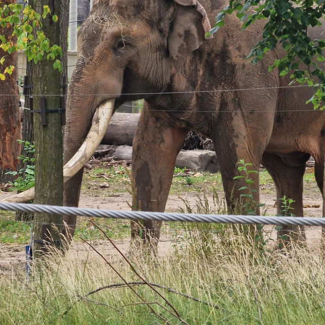
MULTIPOLYGON (((111 157, 115 160, 131 160, 132 147, 100 145, 94 154, 95 156, 111 157)), ((181 150, 176 158, 175 166, 211 173, 218 171, 215 152, 209 150, 181 150)))

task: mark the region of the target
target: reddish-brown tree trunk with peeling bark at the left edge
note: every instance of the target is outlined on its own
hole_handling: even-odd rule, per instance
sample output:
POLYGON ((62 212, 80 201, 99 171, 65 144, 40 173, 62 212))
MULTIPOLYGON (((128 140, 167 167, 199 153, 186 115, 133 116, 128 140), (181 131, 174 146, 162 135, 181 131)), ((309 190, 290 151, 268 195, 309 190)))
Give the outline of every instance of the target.
MULTIPOLYGON (((0 6, 15 3, 16 0, 2 0, 0 6)), ((0 27, 0 33, 6 36, 6 41, 16 44, 17 39, 12 37, 13 26, 0 27)), ((8 171, 16 171, 20 145, 20 112, 18 108, 19 90, 17 86, 17 53, 8 54, 0 49, 0 58, 5 57, 0 72, 6 67, 14 66, 15 70, 11 75, 6 74, 6 79, 0 81, 0 183, 13 180, 11 175, 6 175, 8 171)))

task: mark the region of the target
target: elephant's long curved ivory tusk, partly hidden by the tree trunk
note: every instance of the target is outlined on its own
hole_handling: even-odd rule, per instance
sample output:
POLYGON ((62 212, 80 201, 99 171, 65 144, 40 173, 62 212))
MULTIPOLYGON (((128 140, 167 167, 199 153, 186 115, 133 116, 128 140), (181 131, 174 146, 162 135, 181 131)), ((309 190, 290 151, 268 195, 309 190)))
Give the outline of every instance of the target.
MULTIPOLYGON (((83 144, 75 155, 63 167, 63 182, 68 181, 74 176, 89 160, 96 148, 100 145, 108 124, 110 123, 114 108, 114 100, 107 101, 101 104, 93 118, 90 130, 83 144)), ((23 203, 34 200, 35 188, 29 188, 19 194, 13 194, 2 201, 23 203)))

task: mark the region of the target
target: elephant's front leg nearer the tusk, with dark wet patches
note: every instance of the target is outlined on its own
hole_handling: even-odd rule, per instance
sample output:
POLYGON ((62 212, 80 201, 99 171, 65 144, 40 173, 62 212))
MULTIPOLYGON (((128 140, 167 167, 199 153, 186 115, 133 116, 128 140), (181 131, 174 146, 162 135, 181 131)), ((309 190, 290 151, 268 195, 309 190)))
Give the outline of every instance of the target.
MULTIPOLYGON (((171 126, 166 112, 146 108, 141 114, 133 140, 133 209, 164 212, 177 154, 187 129, 171 126)), ((144 221, 143 239, 158 242, 161 222, 144 221)), ((140 235, 137 222, 131 223, 132 237, 140 235)))

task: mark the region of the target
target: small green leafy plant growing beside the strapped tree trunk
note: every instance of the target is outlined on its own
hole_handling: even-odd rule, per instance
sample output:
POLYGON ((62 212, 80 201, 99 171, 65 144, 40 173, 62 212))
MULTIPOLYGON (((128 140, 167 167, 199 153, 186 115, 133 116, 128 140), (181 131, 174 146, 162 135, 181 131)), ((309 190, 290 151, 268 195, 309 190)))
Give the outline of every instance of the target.
POLYGON ((35 185, 35 144, 28 141, 17 140, 24 148, 28 156, 20 155, 18 159, 26 164, 25 168, 18 172, 8 172, 6 174, 18 176, 14 182, 9 182, 13 188, 11 190, 25 191, 35 185))

